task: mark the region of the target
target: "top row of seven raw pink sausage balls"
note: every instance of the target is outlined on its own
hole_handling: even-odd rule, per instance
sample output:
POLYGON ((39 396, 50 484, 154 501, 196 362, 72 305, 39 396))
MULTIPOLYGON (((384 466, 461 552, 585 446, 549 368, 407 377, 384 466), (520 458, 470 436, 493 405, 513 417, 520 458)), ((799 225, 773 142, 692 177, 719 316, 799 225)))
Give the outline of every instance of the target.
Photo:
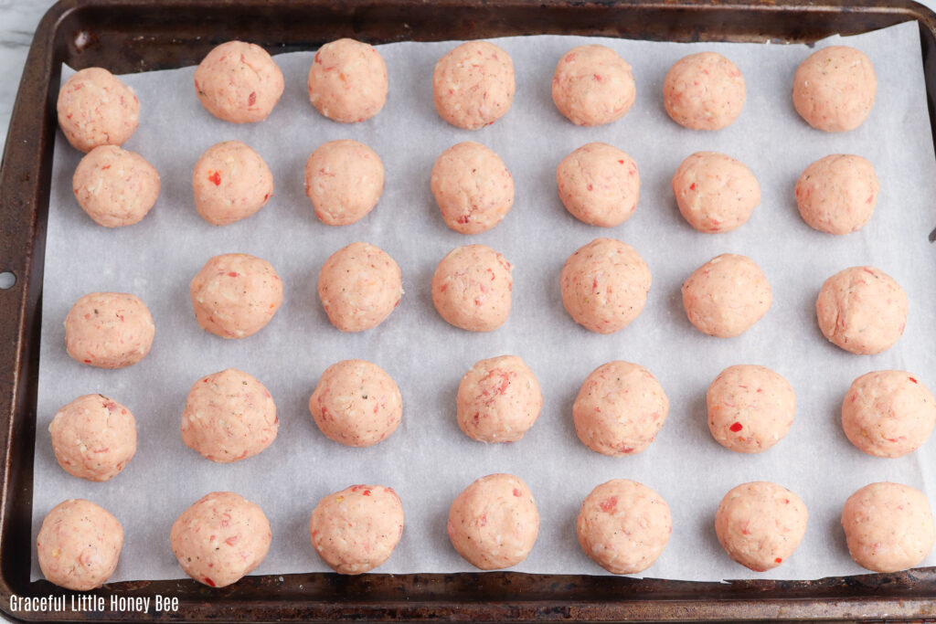
MULTIPOLYGON (((230 123, 256 123, 283 94, 283 72, 256 44, 228 41, 197 66, 195 91, 208 112, 230 123)), ((516 81, 510 55, 489 41, 469 41, 435 65, 432 100, 439 116, 459 128, 494 123, 513 104, 516 81)), ((373 46, 339 39, 315 52, 308 77, 309 99, 322 115, 341 123, 370 119, 384 107, 387 65, 373 46)), ((829 46, 797 67, 793 103, 812 127, 852 130, 874 105, 877 78, 870 59, 846 46, 829 46)), ((666 73, 663 99, 676 123, 718 130, 740 115, 746 98, 737 65, 715 52, 690 54, 666 73)), ((621 119, 634 105, 636 83, 617 52, 585 45, 563 54, 552 79, 556 108, 572 123, 601 125, 621 119)), ((59 124, 82 152, 122 145, 139 123, 139 99, 106 69, 92 67, 66 80, 59 93, 59 124)))

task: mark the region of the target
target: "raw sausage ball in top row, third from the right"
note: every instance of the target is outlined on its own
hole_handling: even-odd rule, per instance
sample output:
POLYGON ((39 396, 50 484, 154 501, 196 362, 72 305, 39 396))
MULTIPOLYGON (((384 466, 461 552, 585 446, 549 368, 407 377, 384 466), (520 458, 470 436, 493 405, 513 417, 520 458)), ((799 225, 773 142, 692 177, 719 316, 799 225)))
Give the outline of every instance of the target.
POLYGON ((631 66, 606 46, 578 46, 563 54, 552 75, 552 101, 576 125, 621 119, 634 106, 631 66))

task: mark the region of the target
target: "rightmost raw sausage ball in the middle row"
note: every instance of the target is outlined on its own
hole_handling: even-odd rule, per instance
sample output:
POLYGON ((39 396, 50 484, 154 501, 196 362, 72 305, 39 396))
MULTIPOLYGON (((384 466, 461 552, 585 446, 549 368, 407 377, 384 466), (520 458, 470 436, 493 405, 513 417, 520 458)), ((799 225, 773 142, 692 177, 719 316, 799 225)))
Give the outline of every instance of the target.
POLYGON ((903 334, 907 295, 880 268, 846 268, 822 285, 816 317, 833 344, 854 354, 877 354, 903 334))

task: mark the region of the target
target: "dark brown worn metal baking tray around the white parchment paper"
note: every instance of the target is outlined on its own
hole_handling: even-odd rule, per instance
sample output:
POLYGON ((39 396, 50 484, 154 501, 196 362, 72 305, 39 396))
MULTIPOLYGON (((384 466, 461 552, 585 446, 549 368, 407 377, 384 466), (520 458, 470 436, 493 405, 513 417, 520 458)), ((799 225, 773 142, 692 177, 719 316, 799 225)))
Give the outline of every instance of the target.
POLYGON ((64 620, 333 621, 919 619, 936 617, 936 568, 817 581, 688 583, 523 573, 251 576, 206 588, 139 581, 90 592, 179 599, 175 612, 10 614, 10 597, 65 596, 30 582, 43 259, 62 63, 115 73, 196 65, 244 39, 272 53, 352 36, 371 43, 567 34, 673 41, 812 42, 919 23, 930 125, 936 14, 910 0, 63 0, 39 24, 0 165, 0 611, 64 620))

